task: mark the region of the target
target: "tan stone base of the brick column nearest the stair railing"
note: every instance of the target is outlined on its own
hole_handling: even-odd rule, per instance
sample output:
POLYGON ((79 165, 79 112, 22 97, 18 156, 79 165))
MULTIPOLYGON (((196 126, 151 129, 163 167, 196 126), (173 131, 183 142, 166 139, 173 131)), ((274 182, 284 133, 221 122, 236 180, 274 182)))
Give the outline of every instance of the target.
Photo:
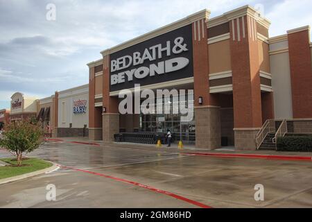
POLYGON ((234 130, 236 151, 254 151, 259 130, 234 130))

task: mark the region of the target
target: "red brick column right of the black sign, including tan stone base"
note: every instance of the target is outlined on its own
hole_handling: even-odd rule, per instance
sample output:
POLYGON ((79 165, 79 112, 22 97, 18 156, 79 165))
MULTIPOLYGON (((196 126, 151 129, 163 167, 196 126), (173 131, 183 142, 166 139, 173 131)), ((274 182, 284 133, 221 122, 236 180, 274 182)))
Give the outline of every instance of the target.
POLYGON ((196 147, 209 150, 221 146, 220 108, 217 99, 209 94, 209 60, 205 19, 192 24, 193 74, 196 121, 196 147), (202 97, 202 105, 198 98, 202 97))

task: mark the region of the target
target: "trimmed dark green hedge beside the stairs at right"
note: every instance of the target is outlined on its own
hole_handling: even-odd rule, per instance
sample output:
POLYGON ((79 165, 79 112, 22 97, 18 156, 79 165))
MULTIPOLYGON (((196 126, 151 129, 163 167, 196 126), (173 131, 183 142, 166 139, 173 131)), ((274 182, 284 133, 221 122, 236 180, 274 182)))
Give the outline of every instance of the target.
POLYGON ((312 136, 278 137, 277 151, 312 152, 312 136))

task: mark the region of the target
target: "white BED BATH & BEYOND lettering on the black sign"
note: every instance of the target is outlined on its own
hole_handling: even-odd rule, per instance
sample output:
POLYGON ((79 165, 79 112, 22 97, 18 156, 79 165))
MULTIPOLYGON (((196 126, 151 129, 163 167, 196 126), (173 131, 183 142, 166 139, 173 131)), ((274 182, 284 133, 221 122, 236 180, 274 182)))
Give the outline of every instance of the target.
MULTIPOLYGON (((153 62, 155 60, 161 59, 164 56, 171 56, 171 54, 180 54, 184 51, 189 51, 187 49, 187 44, 184 44, 183 37, 177 37, 171 44, 171 41, 166 42, 166 46, 162 44, 157 44, 146 48, 144 53, 141 55, 140 52, 133 53, 132 56, 123 56, 111 61, 111 72, 120 71, 127 69, 131 66, 144 64, 146 60, 153 62), (172 47, 172 48, 171 48, 172 47)), ((162 62, 157 62, 157 64, 150 64, 149 67, 139 67, 137 69, 131 69, 126 71, 121 71, 119 74, 114 74, 110 77, 110 84, 115 85, 118 83, 125 83, 127 79, 129 82, 133 78, 142 79, 147 76, 155 76, 167 74, 173 71, 177 71, 187 67, 189 65, 189 59, 184 57, 173 58, 170 60, 165 60, 162 62)))

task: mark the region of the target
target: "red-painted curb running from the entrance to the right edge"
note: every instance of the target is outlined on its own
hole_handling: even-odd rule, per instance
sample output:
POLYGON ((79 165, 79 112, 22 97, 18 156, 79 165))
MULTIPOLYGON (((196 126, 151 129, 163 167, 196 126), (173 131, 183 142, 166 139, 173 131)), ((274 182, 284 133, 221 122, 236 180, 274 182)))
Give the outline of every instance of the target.
POLYGON ((250 159, 267 160, 294 160, 294 161, 312 161, 312 157, 295 155, 260 155, 260 154, 239 154, 239 153, 182 153, 185 155, 201 155, 210 157, 239 157, 250 159))

